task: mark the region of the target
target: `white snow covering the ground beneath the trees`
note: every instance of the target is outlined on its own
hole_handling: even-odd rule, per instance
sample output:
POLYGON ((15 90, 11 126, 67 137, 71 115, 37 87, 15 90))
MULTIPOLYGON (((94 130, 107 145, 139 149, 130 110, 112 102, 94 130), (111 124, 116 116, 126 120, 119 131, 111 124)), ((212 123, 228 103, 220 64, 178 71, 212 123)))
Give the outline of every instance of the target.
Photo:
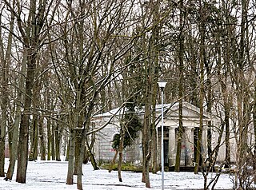
MULTIPOLYGON (((6 160, 5 171, 7 171, 9 161, 6 160)), ((15 168, 16 171, 16 168, 15 168)), ((11 181, 0 178, 0 189, 10 190, 52 190, 52 189, 76 189, 76 184, 66 184, 67 162, 66 161, 32 161, 28 163, 26 184, 18 184, 14 179, 11 181)), ((131 190, 147 189, 141 182, 142 174, 138 172, 122 172, 123 182, 118 181, 118 172, 108 172, 107 170, 94 171, 91 164, 83 165, 83 188, 84 189, 104 189, 104 190, 131 190)), ((165 189, 202 189, 202 174, 195 175, 193 172, 165 172, 165 189)), ((209 175, 209 179, 214 174, 209 175)), ((233 184, 229 174, 222 174, 215 189, 232 189, 233 184)), ((150 173, 150 189, 161 189, 161 172, 154 175, 150 173)), ((76 178, 74 176, 74 182, 76 178)))

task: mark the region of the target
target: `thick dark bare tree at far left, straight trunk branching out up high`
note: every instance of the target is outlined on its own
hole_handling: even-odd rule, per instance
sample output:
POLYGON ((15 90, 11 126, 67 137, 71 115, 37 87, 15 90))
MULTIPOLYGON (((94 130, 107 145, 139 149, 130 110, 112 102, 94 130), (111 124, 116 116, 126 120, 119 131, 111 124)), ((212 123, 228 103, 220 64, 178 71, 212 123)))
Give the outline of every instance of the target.
MULTIPOLYGON (((18 171, 16 180, 19 183, 26 183, 26 167, 28 156, 28 141, 29 141, 29 118, 31 114, 31 102, 32 102, 32 89, 34 88, 34 70, 36 69, 36 57, 38 50, 44 44, 46 36, 45 31, 42 31, 46 23, 46 18, 50 13, 51 2, 38 3, 32 1, 28 4, 28 7, 24 5, 26 3, 15 2, 14 6, 11 6, 10 2, 6 3, 8 10, 14 14, 14 18, 17 21, 18 32, 15 37, 22 42, 24 46, 23 59, 26 60, 26 87, 24 97, 24 112, 21 117, 20 132, 19 132, 19 144, 18 148, 18 171), (23 9, 30 10, 28 17, 22 20, 23 9), (20 36, 20 37, 19 37, 20 36)), ((54 17, 54 14, 51 14, 54 17)), ((47 18, 48 19, 48 18, 47 18)))

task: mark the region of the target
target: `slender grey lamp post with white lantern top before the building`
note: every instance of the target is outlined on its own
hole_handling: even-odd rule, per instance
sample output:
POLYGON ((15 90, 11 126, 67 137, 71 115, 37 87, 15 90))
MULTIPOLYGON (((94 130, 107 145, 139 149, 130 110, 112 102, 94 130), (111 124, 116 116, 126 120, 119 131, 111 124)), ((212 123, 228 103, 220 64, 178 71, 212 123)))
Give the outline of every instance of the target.
POLYGON ((166 87, 166 81, 158 81, 158 85, 161 89, 161 97, 162 97, 162 125, 161 125, 161 168, 162 168, 162 190, 164 189, 164 154, 163 154, 163 89, 166 87))

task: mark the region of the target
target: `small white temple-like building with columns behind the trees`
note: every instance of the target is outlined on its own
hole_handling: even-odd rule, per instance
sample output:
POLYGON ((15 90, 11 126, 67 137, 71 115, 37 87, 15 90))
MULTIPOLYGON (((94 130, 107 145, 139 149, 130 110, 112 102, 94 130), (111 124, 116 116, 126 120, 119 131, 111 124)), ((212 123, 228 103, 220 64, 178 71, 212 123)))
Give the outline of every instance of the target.
MULTIPOLYGON (((141 120, 144 117, 144 110, 136 110, 141 120)), ((178 103, 164 105, 164 164, 166 166, 174 166, 176 159, 177 139, 178 139, 178 103)), ((94 116, 92 123, 96 128, 106 125, 97 133, 94 146, 95 157, 98 161, 109 162, 114 158, 115 151, 111 144, 114 136, 119 133, 120 119, 123 109, 113 109, 110 112, 98 114, 94 116)), ((182 137, 182 153, 181 166, 194 165, 194 149, 198 138, 198 128, 200 121, 200 109, 188 102, 183 102, 183 137, 182 137)), ((161 105, 156 106, 156 116, 161 117, 161 105)), ((160 120, 159 120, 160 121, 160 120)), ((207 126, 209 121, 214 125, 214 121, 210 114, 204 113, 202 117, 202 155, 207 156, 207 126)), ((161 157, 161 122, 157 124, 158 136, 158 164, 161 157)), ((213 143, 214 144, 214 143, 213 143)), ((134 140, 134 144, 127 147, 123 152, 123 160, 134 164, 142 162, 142 134, 134 140)))

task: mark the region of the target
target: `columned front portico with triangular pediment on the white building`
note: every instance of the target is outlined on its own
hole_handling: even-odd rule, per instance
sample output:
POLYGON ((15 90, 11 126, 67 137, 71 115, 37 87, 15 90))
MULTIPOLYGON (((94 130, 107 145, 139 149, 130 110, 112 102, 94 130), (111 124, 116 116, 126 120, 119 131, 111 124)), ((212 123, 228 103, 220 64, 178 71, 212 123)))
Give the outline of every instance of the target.
MULTIPOLYGON (((198 141, 199 129, 199 109, 194 105, 184 102, 183 105, 183 135, 182 135, 182 152, 181 152, 181 166, 194 166, 195 148, 198 141)), ((202 127, 202 147, 201 152, 203 156, 207 156, 207 122, 210 117, 203 115, 202 127)), ((158 147, 161 146, 159 133, 160 125, 158 125, 158 147)), ((178 104, 173 105, 169 112, 164 117, 164 141, 168 143, 168 148, 164 148, 165 156, 168 156, 168 163, 165 165, 172 167, 175 165, 178 141, 178 104)), ((160 148, 158 148, 158 156, 160 156, 160 148)))

